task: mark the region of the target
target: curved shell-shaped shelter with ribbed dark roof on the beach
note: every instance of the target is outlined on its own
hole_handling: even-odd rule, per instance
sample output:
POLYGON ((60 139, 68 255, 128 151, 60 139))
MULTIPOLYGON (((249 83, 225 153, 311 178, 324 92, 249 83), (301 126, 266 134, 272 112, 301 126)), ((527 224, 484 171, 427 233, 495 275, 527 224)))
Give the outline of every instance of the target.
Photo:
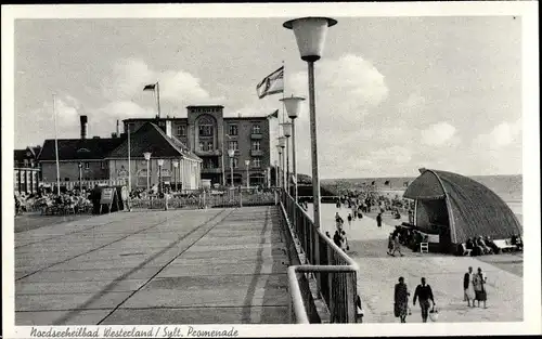
POLYGON ((416 223, 418 216, 439 218, 448 214, 444 218, 448 219, 452 244, 475 236, 503 239, 521 233, 521 225, 509 207, 481 183, 452 172, 420 171, 422 174, 403 194, 403 197, 417 201, 416 223))

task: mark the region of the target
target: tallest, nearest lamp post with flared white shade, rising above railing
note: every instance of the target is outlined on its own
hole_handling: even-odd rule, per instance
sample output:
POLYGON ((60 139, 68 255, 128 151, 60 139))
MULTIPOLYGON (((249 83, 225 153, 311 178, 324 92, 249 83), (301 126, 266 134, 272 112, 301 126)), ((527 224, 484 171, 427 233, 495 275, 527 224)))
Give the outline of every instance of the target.
MULTIPOLYGON (((287 21, 283 26, 293 29, 301 60, 308 64, 309 73, 309 112, 310 141, 312 153, 312 196, 314 206, 314 226, 320 229, 320 177, 317 144, 317 108, 314 97, 314 62, 320 60, 324 50, 327 28, 337 24, 330 17, 300 17, 287 21)), ((318 245, 318 242, 317 242, 318 245)), ((317 251, 318 252, 318 251, 317 251)), ((317 263, 318 264, 318 263, 317 263)))

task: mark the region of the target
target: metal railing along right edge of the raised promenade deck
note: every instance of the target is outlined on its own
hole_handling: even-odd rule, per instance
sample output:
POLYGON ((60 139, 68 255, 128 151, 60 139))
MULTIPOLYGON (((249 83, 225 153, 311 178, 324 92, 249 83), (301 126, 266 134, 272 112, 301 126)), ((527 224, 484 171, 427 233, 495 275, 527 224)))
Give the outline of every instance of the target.
MULTIPOLYGON (((357 323, 358 264, 332 239, 314 226, 311 218, 286 192, 281 194, 284 221, 299 242, 308 264, 288 268, 292 316, 296 323, 308 324, 314 315, 311 294, 302 290, 298 274, 315 279, 318 295, 330 311, 331 323, 357 323)), ((306 286, 305 286, 306 287, 306 286)))

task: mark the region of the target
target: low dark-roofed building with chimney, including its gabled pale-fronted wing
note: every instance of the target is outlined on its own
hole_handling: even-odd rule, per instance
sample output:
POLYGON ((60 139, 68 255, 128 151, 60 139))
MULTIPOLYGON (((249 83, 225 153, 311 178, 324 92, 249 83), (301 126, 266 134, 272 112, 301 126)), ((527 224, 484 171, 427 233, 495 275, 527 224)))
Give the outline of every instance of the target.
MULTIPOLYGON (((95 184, 128 184, 131 188, 146 188, 159 183, 183 190, 201 187, 202 160, 193 155, 180 141, 168 135, 153 122, 143 122, 130 134, 131 158, 128 166, 128 134, 113 133, 113 138, 87 139, 87 117, 81 116, 79 139, 61 139, 59 144, 59 172, 61 188, 91 188, 95 184), (144 153, 151 153, 151 160, 144 153), (158 160, 163 160, 162 175, 158 160), (177 167, 173 164, 178 164, 177 167), (131 175, 128 175, 128 168, 131 175), (179 178, 177 177, 179 174, 179 178)), ((159 121, 156 121, 159 122, 159 121)), ((46 140, 39 155, 41 184, 56 186, 55 141, 46 140)), ((17 181, 15 181, 17 184, 17 181)))

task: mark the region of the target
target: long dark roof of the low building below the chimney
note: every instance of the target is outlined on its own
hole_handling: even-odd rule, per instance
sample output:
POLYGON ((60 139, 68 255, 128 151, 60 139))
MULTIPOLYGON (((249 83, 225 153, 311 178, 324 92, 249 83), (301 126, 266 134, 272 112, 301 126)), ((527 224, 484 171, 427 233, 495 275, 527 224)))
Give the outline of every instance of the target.
MULTIPOLYGON (((59 139, 59 160, 104 159, 122 141, 122 138, 59 139)), ((39 160, 55 159, 54 140, 48 139, 43 143, 39 160)))

